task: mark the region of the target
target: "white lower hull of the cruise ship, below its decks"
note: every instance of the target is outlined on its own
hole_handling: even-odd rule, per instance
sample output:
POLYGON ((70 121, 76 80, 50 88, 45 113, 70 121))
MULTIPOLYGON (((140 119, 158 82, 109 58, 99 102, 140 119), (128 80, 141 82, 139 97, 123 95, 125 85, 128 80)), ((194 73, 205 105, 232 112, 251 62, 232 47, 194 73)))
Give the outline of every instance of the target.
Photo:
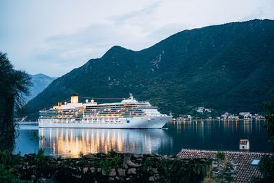
POLYGON ((162 128, 171 116, 162 117, 132 117, 110 122, 108 119, 99 121, 60 119, 39 119, 39 127, 81 127, 81 128, 162 128))

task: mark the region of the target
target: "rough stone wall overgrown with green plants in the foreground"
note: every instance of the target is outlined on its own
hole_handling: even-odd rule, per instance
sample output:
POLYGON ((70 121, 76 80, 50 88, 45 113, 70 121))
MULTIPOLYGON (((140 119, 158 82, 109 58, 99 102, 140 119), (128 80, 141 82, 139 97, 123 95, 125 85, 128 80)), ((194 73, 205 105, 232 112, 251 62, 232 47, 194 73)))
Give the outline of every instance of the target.
POLYGON ((208 159, 110 151, 82 158, 28 154, 5 167, 34 182, 202 182, 211 164, 208 159))

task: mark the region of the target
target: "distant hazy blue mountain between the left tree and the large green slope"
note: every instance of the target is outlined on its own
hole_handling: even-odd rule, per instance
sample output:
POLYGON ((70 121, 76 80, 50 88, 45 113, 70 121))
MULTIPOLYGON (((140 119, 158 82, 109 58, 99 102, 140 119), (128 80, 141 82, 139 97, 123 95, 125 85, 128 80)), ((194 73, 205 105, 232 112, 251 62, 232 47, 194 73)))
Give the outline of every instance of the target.
POLYGON ((33 86, 29 88, 30 95, 26 97, 27 101, 36 97, 36 95, 38 95, 40 92, 42 92, 42 90, 47 88, 47 86, 49 86, 49 84, 57 78, 57 77, 49 77, 44 74, 36 74, 36 75, 29 74, 29 77, 32 78, 33 86))

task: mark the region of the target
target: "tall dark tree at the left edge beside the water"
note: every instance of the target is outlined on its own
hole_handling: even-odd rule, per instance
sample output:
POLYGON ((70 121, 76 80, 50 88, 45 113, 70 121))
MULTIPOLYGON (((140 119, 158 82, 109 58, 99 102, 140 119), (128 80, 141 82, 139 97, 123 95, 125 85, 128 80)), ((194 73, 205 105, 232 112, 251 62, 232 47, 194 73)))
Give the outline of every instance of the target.
POLYGON ((1 150, 13 145, 15 126, 13 121, 14 107, 24 104, 23 94, 28 94, 32 85, 31 78, 25 71, 16 71, 6 53, 0 52, 0 143, 1 150))

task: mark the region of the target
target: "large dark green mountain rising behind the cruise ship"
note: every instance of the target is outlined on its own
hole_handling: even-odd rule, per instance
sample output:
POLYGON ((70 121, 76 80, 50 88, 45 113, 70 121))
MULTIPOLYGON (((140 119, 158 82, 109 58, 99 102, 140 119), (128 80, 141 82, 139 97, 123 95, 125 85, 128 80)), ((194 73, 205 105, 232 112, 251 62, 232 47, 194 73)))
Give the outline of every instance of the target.
POLYGON ((54 80, 27 108, 37 118, 38 110, 73 93, 127 97, 132 92, 175 116, 198 106, 262 112, 262 103, 274 99, 273 49, 274 21, 257 19, 184 30, 141 51, 114 46, 54 80))

